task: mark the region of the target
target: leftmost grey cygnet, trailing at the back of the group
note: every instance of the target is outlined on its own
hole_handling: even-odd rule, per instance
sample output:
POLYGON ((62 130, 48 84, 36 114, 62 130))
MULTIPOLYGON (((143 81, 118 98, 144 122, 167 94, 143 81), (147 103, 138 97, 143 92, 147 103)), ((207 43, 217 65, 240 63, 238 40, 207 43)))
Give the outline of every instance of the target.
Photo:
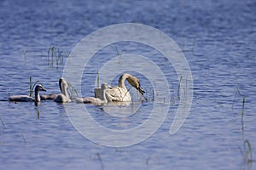
POLYGON ((40 95, 39 95, 39 91, 44 91, 46 92, 46 90, 44 89, 42 84, 38 84, 35 88, 35 98, 32 98, 28 95, 14 95, 14 96, 9 96, 9 101, 35 101, 35 102, 40 102, 40 95))

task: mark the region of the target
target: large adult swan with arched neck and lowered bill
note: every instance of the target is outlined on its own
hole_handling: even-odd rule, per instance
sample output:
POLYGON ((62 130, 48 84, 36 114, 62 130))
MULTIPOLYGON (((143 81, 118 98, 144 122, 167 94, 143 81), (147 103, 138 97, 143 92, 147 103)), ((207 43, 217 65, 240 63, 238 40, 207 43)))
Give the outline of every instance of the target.
POLYGON ((125 87, 125 80, 127 80, 132 87, 136 88, 140 94, 145 93, 138 78, 125 73, 119 77, 119 86, 106 89, 108 101, 131 101, 131 94, 125 87))

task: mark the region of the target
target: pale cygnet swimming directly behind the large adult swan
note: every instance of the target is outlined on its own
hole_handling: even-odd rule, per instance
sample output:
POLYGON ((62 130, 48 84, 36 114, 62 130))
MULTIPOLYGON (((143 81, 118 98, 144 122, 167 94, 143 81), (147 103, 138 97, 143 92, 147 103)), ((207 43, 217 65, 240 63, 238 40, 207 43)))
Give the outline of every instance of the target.
POLYGON ((87 98, 78 98, 76 99, 77 103, 85 103, 85 104, 94 104, 94 105, 102 105, 108 103, 109 97, 106 96, 106 89, 111 88, 108 83, 102 83, 102 91, 101 91, 101 99, 94 98, 94 97, 87 97, 87 98))

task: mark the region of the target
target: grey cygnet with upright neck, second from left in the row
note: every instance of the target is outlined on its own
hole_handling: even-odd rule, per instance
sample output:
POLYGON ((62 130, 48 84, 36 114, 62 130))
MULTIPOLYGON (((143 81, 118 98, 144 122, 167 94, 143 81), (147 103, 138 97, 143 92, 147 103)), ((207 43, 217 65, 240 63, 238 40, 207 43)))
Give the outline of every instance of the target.
POLYGON ((55 97, 55 102, 64 103, 64 102, 71 102, 71 99, 69 99, 69 95, 67 93, 67 81, 64 78, 60 78, 59 80, 59 86, 61 89, 61 94, 58 94, 55 97))

